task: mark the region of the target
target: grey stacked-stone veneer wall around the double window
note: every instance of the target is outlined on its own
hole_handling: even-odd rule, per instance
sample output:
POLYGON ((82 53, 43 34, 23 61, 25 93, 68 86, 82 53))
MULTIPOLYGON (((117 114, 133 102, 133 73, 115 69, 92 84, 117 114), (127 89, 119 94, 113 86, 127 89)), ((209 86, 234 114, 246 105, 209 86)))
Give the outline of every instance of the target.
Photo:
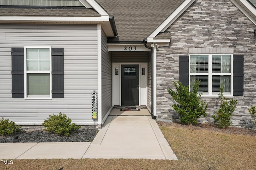
MULTIPOLYGON (((177 119, 174 101, 167 89, 179 80, 179 56, 192 51, 234 51, 244 55, 244 96, 234 96, 237 107, 231 117, 232 125, 249 127, 248 107, 256 105, 256 26, 229 0, 196 0, 166 30, 171 33, 168 47, 157 49, 157 118, 177 119)), ((208 116, 200 122, 213 122, 212 113, 219 108, 218 98, 203 98, 209 103, 208 116)))

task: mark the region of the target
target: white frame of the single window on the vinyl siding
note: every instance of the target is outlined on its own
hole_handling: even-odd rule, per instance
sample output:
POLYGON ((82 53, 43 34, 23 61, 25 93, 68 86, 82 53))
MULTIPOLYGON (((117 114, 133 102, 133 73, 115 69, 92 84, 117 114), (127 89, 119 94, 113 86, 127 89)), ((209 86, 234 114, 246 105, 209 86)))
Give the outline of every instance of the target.
POLYGON ((25 99, 52 99, 52 47, 51 46, 24 46, 24 98, 25 99), (50 53, 50 69, 49 70, 27 70, 27 49, 49 49, 50 53), (27 74, 32 73, 46 73, 50 75, 50 94, 49 95, 30 95, 28 96, 27 92, 27 74))

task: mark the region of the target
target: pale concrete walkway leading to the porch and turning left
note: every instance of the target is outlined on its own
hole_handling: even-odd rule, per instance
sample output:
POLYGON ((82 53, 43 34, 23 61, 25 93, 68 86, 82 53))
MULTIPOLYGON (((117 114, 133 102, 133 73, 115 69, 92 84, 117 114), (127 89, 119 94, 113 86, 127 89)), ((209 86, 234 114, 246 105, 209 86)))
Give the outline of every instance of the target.
POLYGON ((151 116, 108 116, 92 143, 0 143, 0 159, 178 160, 151 116))

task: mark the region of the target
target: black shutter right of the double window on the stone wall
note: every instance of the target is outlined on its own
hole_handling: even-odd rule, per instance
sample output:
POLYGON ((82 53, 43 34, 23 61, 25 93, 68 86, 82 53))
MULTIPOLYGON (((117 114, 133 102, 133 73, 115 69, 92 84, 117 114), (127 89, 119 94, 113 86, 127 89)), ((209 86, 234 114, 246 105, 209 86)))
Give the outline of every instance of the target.
POLYGON ((233 96, 244 95, 244 55, 234 55, 233 96))

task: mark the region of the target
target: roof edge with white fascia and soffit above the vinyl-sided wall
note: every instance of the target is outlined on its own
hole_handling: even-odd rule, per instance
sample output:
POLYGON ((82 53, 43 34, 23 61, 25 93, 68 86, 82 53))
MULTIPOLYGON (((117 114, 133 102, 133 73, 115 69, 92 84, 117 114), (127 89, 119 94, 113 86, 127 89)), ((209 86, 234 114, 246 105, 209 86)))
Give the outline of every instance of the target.
POLYGON ((117 35, 114 17, 95 0, 1 0, 0 23, 100 23, 108 37, 117 35))

